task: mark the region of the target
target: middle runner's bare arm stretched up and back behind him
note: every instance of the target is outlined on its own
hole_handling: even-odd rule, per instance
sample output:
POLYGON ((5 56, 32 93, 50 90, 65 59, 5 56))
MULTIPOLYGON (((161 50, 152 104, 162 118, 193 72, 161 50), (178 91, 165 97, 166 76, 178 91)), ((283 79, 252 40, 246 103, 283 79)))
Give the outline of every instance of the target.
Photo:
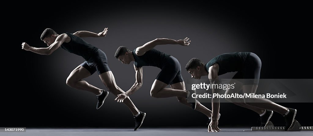
POLYGON ((138 56, 142 56, 145 54, 148 50, 154 48, 156 45, 182 45, 182 46, 188 46, 191 41, 188 41, 189 38, 185 38, 184 40, 173 40, 173 39, 167 39, 167 38, 157 38, 155 40, 152 40, 150 42, 147 42, 146 44, 137 47, 136 54, 138 56))

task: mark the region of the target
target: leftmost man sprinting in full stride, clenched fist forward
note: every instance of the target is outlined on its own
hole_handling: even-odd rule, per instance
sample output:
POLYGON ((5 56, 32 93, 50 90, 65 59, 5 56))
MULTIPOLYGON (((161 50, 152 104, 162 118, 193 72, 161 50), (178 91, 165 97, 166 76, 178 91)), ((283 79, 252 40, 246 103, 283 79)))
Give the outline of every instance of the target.
MULTIPOLYGON (((73 34, 66 32, 59 35, 54 30, 47 28, 40 37, 41 40, 48 45, 47 48, 35 48, 29 46, 27 43, 22 43, 22 49, 41 55, 50 55, 56 49, 61 47, 70 53, 82 56, 85 59, 85 62, 81 63, 69 74, 69 77, 66 79, 66 84, 69 87, 94 93, 98 99, 96 109, 99 109, 103 105, 109 91, 115 96, 124 93, 124 91, 116 85, 114 75, 108 66, 105 53, 97 47, 87 43, 85 40, 81 39, 81 37, 105 37, 107 31, 108 28, 105 28, 98 34, 90 31, 77 31, 73 34), (109 91, 95 87, 83 80, 95 73, 95 71, 97 71, 101 81, 109 91)), ((134 115, 134 130, 136 131, 141 126, 146 113, 139 111, 129 97, 122 101, 134 115)))

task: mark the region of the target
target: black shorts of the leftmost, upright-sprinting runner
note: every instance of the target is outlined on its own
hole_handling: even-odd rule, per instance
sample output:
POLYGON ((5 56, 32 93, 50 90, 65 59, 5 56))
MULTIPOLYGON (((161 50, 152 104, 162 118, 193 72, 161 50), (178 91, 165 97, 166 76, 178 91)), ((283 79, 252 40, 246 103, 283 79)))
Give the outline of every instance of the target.
POLYGON ((86 68, 91 75, 95 73, 95 71, 98 72, 98 75, 111 71, 108 65, 106 55, 101 49, 98 49, 95 52, 91 53, 90 58, 81 63, 80 66, 86 68))

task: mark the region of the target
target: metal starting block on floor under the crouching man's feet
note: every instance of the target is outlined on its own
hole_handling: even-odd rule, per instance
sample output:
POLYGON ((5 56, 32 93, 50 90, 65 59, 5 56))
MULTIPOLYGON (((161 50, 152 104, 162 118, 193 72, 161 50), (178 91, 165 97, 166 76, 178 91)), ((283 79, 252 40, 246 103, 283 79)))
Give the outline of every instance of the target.
MULTIPOLYGON (((265 127, 251 127, 251 130, 244 131, 285 131, 285 127, 275 127, 274 124, 269 121, 265 127)), ((301 127, 300 123, 297 120, 294 120, 291 129, 288 131, 313 131, 313 126, 301 127)))

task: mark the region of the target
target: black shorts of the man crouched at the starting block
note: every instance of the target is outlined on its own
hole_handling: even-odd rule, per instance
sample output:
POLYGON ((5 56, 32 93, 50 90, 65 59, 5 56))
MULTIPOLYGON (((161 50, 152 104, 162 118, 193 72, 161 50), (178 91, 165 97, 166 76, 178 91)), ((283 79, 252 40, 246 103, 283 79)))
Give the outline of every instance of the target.
POLYGON ((258 85, 261 72, 261 59, 254 53, 250 53, 244 61, 244 67, 238 71, 233 79, 242 79, 243 85, 258 85))

